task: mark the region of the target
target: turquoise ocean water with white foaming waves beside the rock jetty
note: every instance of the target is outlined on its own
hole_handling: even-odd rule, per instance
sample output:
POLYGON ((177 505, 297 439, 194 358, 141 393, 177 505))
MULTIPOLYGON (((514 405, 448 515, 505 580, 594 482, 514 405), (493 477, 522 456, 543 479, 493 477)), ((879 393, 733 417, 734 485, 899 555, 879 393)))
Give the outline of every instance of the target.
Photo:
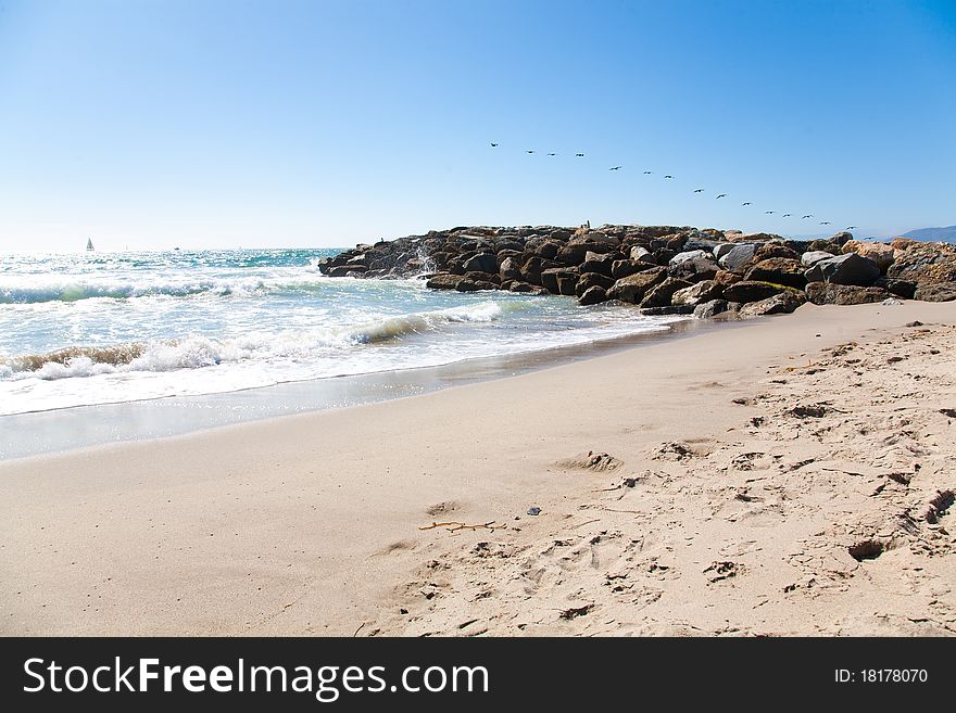
POLYGON ((436 367, 667 330, 571 297, 327 278, 337 250, 0 259, 0 417, 436 367))

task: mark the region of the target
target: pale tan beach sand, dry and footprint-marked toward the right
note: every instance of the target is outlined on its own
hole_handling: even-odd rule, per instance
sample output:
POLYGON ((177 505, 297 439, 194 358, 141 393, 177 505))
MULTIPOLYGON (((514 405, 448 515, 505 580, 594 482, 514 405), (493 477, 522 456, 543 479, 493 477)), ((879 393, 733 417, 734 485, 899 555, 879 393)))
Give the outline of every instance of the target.
POLYGON ((0 463, 0 633, 952 635, 954 324, 806 305, 0 463))

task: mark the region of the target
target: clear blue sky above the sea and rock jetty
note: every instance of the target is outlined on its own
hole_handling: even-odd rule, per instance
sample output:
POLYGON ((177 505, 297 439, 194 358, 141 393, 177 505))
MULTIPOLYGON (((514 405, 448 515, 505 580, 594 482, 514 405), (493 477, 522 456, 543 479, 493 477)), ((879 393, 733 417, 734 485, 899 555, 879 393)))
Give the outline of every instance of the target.
POLYGON ((0 250, 895 234, 956 224, 954 117, 952 0, 0 0, 0 250))

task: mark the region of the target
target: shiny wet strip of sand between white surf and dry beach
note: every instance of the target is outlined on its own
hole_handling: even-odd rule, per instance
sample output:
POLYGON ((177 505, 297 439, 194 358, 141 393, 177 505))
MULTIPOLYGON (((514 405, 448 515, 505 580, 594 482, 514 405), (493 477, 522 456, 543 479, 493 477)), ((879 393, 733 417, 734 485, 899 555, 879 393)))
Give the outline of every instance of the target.
POLYGON ((0 417, 0 462, 40 458, 121 443, 172 438, 242 423, 351 408, 406 398, 466 383, 530 373, 735 321, 679 319, 667 329, 636 332, 581 344, 466 358, 414 367, 251 386, 231 392, 165 396, 27 411, 0 417), (186 418, 184 418, 184 416, 186 418), (68 429, 63 426, 68 425, 68 429), (13 434, 18 434, 16 437, 13 434), (28 441, 23 434, 29 433, 28 441))

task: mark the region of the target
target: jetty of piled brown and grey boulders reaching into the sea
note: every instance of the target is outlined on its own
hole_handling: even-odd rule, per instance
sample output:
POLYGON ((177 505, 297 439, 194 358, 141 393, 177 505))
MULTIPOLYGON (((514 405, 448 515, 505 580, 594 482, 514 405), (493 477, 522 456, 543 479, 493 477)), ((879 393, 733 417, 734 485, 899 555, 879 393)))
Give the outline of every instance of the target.
POLYGON ((457 227, 357 245, 323 258, 329 277, 422 277, 436 290, 506 290, 619 301, 645 314, 741 317, 805 302, 956 300, 956 246, 848 232, 790 240, 678 226, 457 227))

